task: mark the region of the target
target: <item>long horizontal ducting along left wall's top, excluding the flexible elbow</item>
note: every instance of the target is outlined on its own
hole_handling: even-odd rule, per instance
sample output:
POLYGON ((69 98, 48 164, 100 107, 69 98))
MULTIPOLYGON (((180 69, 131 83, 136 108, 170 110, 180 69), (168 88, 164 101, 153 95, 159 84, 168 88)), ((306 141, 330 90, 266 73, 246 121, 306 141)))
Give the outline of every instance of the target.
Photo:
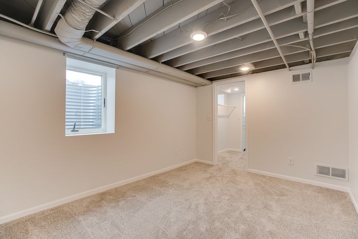
POLYGON ((94 44, 93 40, 87 38, 83 39, 86 42, 91 42, 91 47, 94 47, 95 45, 95 50, 83 51, 81 49, 72 48, 60 42, 56 37, 41 34, 2 20, 0 20, 0 35, 54 48, 63 52, 108 61, 140 72, 145 72, 154 76, 182 82, 192 86, 209 85, 212 83, 210 80, 205 80, 176 68, 160 64, 156 61, 134 55, 100 42, 95 42, 94 44))

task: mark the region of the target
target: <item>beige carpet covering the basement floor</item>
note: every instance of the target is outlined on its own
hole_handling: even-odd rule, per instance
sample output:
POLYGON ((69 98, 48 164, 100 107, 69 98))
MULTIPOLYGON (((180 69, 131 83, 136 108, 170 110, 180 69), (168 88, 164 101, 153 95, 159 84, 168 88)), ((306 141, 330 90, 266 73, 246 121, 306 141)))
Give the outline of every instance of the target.
POLYGON ((243 170, 192 163, 0 225, 0 238, 357 239, 346 193, 243 170))

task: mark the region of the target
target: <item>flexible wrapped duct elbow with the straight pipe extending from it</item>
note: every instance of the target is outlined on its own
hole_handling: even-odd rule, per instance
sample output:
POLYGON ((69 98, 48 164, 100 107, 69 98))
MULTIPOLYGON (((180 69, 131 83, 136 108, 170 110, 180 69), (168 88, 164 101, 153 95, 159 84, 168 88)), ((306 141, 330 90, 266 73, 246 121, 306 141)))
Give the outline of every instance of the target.
MULTIPOLYGON (((211 84, 211 81, 191 75, 187 72, 160 64, 153 60, 148 60, 95 40, 83 38, 85 28, 95 13, 95 10, 89 7, 88 4, 93 7, 99 7, 103 2, 105 2, 105 0, 86 0, 86 4, 84 4, 82 0, 74 0, 63 19, 60 19, 57 23, 55 32, 58 39, 66 45, 81 51, 127 62, 200 85, 211 84)), ((86 54, 84 53, 83 55, 86 54)))

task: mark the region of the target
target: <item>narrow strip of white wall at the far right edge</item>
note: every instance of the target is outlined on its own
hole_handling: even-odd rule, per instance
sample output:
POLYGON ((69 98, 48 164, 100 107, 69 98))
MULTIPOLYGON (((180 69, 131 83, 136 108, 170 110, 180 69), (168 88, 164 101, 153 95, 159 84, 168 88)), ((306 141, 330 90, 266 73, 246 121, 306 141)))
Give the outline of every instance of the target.
POLYGON ((349 187, 358 211, 358 44, 348 64, 349 187))

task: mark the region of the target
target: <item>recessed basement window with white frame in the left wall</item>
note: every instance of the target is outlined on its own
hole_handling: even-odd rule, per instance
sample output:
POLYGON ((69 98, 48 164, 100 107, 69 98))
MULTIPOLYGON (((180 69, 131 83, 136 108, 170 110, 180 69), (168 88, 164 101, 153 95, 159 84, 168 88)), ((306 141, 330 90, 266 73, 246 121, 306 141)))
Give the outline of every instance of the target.
POLYGON ((65 135, 114 133, 115 70, 67 58, 65 135))

